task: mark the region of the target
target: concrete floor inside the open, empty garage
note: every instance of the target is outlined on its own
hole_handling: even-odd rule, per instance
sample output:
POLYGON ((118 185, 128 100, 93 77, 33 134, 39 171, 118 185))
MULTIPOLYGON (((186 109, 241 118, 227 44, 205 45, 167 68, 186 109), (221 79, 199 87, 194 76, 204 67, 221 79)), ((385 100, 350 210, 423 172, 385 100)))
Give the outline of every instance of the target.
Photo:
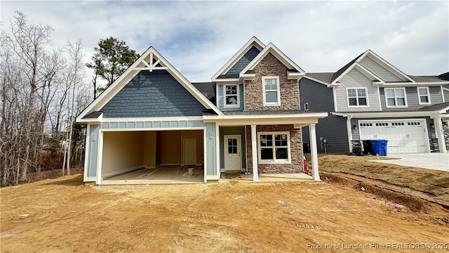
POLYGON ((195 166, 170 166, 156 169, 138 169, 109 179, 102 180, 102 185, 119 184, 169 184, 169 183, 203 183, 203 169, 195 166), (194 176, 188 176, 188 168, 194 168, 194 176))

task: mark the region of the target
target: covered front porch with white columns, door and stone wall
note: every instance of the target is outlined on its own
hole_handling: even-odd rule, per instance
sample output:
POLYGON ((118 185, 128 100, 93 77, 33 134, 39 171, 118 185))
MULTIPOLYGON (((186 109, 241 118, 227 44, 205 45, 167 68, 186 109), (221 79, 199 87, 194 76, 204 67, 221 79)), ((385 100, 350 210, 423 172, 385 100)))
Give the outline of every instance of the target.
POLYGON ((204 115, 217 129, 217 174, 241 171, 241 180, 285 180, 288 174, 304 175, 301 180, 319 177, 316 129, 327 112, 272 111, 225 112, 204 115), (260 113, 260 114, 259 114, 260 113), (249 115, 248 115, 249 114, 249 115), (312 176, 304 174, 302 126, 309 126, 312 176), (279 174, 280 176, 272 176, 279 174), (284 176, 282 176, 284 175, 284 176))

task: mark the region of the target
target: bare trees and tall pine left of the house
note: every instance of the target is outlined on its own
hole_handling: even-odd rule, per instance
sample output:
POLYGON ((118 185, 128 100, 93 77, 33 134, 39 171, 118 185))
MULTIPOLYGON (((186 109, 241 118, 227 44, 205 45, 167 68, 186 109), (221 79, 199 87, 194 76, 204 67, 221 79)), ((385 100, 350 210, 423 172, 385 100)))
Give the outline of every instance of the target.
POLYGON ((75 117, 139 55, 123 41, 100 39, 91 63, 81 40, 53 46, 53 28, 30 25, 15 12, 0 34, 0 184, 28 180, 30 172, 82 166, 86 124, 75 117), (86 67, 93 69, 91 84, 86 67))

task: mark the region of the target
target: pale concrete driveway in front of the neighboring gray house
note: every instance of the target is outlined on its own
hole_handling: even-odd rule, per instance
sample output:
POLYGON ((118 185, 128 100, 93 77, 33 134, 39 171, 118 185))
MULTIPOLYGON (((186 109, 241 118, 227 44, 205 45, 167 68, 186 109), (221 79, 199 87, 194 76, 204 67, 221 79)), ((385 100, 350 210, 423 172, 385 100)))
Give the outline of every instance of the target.
POLYGON ((449 153, 395 153, 387 157, 398 160, 373 160, 373 162, 449 171, 449 153))

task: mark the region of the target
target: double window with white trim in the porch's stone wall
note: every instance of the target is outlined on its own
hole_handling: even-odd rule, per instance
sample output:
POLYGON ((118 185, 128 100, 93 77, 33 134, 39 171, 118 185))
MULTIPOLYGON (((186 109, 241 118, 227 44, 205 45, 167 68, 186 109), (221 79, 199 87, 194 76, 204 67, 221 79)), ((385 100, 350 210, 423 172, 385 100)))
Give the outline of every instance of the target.
POLYGON ((290 133, 287 132, 260 132, 257 133, 259 141, 259 163, 290 163, 290 133))

